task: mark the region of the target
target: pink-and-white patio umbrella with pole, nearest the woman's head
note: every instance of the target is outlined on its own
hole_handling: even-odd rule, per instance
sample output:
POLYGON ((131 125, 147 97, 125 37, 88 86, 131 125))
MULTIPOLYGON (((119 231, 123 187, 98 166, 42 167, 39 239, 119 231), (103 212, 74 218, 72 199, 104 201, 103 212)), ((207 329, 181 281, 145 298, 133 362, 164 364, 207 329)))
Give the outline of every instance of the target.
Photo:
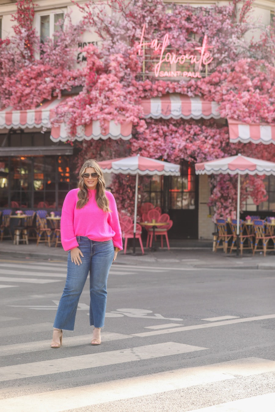
POLYGON ((150 159, 140 155, 130 157, 120 157, 118 159, 104 160, 99 162, 103 173, 123 173, 125 175, 136 175, 135 208, 134 208, 134 247, 136 235, 136 215, 137 215, 137 194, 139 185, 139 175, 165 175, 180 176, 180 165, 162 162, 161 160, 150 159))

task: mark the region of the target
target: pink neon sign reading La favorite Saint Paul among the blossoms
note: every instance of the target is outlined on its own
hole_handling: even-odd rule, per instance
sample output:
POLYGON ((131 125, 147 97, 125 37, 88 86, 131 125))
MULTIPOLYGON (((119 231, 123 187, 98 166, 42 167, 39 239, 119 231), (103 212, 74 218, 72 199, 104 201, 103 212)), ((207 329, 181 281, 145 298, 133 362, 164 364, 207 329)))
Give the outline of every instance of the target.
MULTIPOLYGON (((169 44, 169 34, 166 33, 165 36, 163 37, 162 44, 158 42, 157 39, 153 39, 152 41, 148 43, 143 43, 143 37, 145 33, 145 24, 143 24, 142 28, 142 33, 141 33, 141 39, 139 43, 139 55, 141 54, 141 47, 142 46, 150 46, 150 49, 155 49, 155 51, 160 50, 160 60, 159 62, 155 65, 155 77, 163 77, 163 73, 169 73, 169 76, 171 76, 171 73, 181 73, 180 71, 176 72, 162 72, 160 71, 160 66, 162 63, 167 62, 170 64, 173 63, 178 63, 178 64, 184 64, 186 60, 190 60, 191 64, 195 63, 199 65, 198 70, 200 71, 202 68, 202 65, 207 66, 207 64, 211 63, 213 60, 213 57, 211 54, 207 51, 210 48, 213 48, 213 46, 208 46, 207 44, 207 35, 204 35, 204 39, 202 42, 202 47, 196 47, 195 50, 198 50, 200 52, 200 56, 196 56, 195 54, 181 54, 180 56, 177 56, 174 53, 167 52, 165 54, 165 49, 169 44)), ((191 72, 189 72, 190 75, 188 75, 188 72, 183 72, 183 76, 187 77, 200 77, 199 73, 197 72, 197 75, 191 75, 191 72), (187 73, 187 74, 186 74, 187 73)), ((194 73, 193 73, 194 74, 194 73)), ((179 74, 177 74, 178 76, 179 74)), ((166 74, 165 74, 166 76, 166 74)))

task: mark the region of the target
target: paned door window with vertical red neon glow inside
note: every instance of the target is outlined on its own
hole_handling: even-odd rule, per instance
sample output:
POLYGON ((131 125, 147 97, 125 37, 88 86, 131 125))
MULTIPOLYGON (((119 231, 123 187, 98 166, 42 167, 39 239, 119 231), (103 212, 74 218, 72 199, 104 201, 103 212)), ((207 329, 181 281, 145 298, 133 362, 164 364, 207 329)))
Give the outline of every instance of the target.
POLYGON ((195 209, 195 167, 190 162, 181 164, 181 176, 171 176, 170 209, 195 209))

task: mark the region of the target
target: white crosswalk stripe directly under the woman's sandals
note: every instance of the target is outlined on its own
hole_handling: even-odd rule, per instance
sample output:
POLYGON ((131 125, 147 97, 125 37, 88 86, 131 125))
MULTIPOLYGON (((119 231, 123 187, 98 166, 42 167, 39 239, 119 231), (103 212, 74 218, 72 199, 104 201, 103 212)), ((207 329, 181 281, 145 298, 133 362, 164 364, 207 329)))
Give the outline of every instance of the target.
MULTIPOLYGON (((35 351, 46 351, 51 350, 50 343, 52 341, 52 325, 51 330, 49 332, 49 339, 41 340, 37 342, 26 342, 26 343, 16 343, 13 345, 2 345, 0 346, 0 354, 1 356, 7 355, 16 355, 17 353, 29 353, 30 348, 32 352, 35 351)), ((66 334, 66 332, 65 332, 66 334)), ((130 339, 133 336, 131 335, 123 335, 122 333, 114 333, 114 332, 101 332, 102 342, 109 342, 113 340, 120 340, 120 339, 130 339)), ((70 336, 67 337, 66 335, 63 337, 62 347, 71 347, 71 346, 79 346, 79 345, 89 345, 92 339, 92 332, 89 335, 78 335, 78 336, 70 336)))

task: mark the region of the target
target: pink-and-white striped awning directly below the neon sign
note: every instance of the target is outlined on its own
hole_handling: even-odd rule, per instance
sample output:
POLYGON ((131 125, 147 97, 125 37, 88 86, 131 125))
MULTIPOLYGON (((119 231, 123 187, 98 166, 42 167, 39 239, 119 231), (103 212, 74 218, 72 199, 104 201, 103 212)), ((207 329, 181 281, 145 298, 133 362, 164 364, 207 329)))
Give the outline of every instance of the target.
POLYGON ((143 98, 144 117, 153 119, 220 119, 218 103, 201 97, 189 97, 173 93, 162 97, 143 98))

